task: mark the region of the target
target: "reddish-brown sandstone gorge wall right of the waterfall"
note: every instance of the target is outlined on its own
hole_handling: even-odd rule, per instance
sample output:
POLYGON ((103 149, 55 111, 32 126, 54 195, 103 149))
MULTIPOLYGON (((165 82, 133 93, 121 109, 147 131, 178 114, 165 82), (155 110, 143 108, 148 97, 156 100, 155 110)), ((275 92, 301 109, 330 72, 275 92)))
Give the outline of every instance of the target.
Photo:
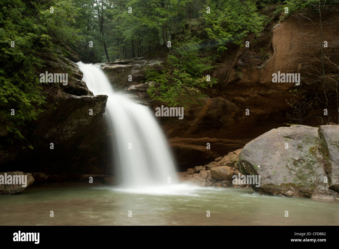
MULTIPOLYGON (((336 14, 328 15, 327 18, 338 20, 336 14)), ((331 28, 323 32, 328 44, 338 39, 331 28)), ((320 49, 310 46, 307 40, 316 39, 319 35, 320 30, 316 26, 290 17, 276 25, 272 24, 270 30, 263 31, 257 40, 250 40, 249 37, 249 48, 230 45, 216 61, 218 67, 211 77, 217 78, 218 83, 203 91, 209 97, 201 99, 202 105, 185 108, 182 120, 177 117, 159 117, 181 169, 204 165, 218 156, 242 148, 250 140, 273 128, 286 126, 284 123, 288 122, 286 112, 289 108, 286 99, 292 97, 289 90, 295 84, 272 83, 273 73, 300 73, 301 88, 308 96, 321 93, 320 84, 310 84, 306 80, 306 68, 312 63, 310 58, 313 58, 314 53, 321 53, 320 49), (266 51, 268 59, 259 65, 246 63, 249 57, 259 57, 252 51, 256 46, 266 51), (249 109, 250 115, 245 115, 246 109, 249 109), (211 150, 206 149, 208 142, 211 150)), ((113 64, 102 65, 108 78, 120 77, 127 90, 132 85, 127 80, 128 75, 137 72, 138 76, 133 80, 136 87, 129 90, 145 100, 145 84, 138 85, 142 81, 140 74, 147 64, 159 68, 159 63, 137 58, 135 61, 123 60, 113 64), (116 70, 117 67, 119 70, 116 70)), ((117 85, 114 80, 112 84, 117 85)), ((121 83, 119 86, 123 87, 121 83)), ((155 110, 164 103, 148 104, 155 110)))

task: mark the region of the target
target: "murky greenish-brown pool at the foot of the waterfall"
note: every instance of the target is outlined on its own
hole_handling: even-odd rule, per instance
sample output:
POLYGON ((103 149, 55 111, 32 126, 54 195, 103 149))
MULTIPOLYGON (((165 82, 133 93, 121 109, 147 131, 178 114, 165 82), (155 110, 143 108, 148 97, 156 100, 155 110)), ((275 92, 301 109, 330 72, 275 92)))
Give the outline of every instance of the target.
POLYGON ((21 194, 0 195, 0 221, 1 225, 338 225, 339 203, 185 184, 149 189, 44 184, 21 194), (51 210, 54 217, 49 216, 51 210))

